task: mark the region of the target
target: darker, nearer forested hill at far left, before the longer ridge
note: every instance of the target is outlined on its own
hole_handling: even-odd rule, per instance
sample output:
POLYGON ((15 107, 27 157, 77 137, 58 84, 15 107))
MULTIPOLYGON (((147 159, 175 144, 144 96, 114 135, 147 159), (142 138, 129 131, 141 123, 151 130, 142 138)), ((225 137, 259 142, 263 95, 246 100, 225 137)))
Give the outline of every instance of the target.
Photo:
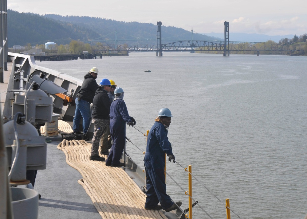
POLYGON ((90 29, 69 23, 59 23, 34 13, 7 10, 8 46, 45 44, 52 41, 69 44, 71 40, 87 40, 100 35, 90 29))

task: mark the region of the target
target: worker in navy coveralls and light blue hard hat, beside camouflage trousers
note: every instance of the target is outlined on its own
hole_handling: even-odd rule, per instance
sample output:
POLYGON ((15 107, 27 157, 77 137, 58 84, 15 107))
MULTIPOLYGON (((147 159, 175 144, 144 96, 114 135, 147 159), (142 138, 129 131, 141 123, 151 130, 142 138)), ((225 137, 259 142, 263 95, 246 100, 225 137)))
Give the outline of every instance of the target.
POLYGON ((124 163, 120 162, 120 157, 124 151, 126 143, 126 124, 129 126, 136 125, 134 118, 129 116, 127 106, 123 100, 124 90, 116 87, 114 90, 115 98, 110 107, 110 133, 113 145, 110 149, 106 166, 123 167, 124 163))

